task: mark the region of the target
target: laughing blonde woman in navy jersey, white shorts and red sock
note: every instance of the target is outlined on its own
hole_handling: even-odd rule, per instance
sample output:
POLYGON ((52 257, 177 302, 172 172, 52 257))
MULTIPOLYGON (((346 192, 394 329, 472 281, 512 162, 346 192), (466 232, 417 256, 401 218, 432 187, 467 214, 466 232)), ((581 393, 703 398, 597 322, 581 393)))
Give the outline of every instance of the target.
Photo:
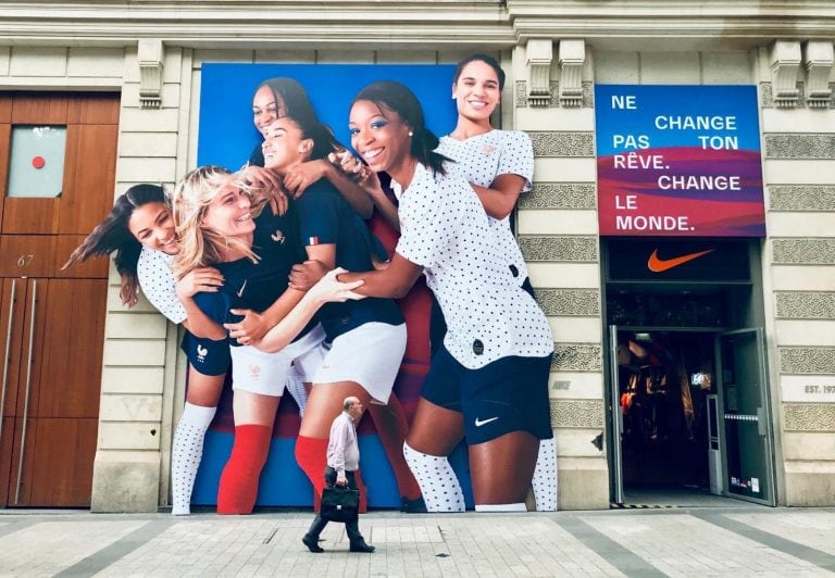
POLYGON ((197 293, 195 303, 214 323, 234 328, 227 347, 235 441, 221 476, 217 513, 249 514, 285 382, 291 372, 310 382, 324 357, 324 331, 313 314, 324 301, 350 299, 351 287, 334 286, 333 275, 307 293, 288 287, 290 271, 304 261, 294 206, 274 213, 265 199, 253 200, 241 175, 216 166, 195 169, 177 186, 173 206, 180 239, 175 274, 212 265, 224 278, 219 291, 197 293), (262 339, 237 335, 245 311, 272 327, 262 339))

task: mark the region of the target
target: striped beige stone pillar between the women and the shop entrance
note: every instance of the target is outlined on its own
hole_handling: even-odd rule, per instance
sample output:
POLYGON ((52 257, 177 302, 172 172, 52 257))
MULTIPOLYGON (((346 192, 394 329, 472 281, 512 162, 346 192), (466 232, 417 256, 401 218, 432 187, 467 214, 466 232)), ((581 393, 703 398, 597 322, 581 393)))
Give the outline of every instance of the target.
MULTIPOLYGON (((554 43, 556 45, 556 43, 554 43)), ((553 54, 557 54, 553 47, 553 54)), ((513 99, 512 127, 534 143, 534 188, 520 199, 519 244, 531 282, 554 339, 549 380, 557 440, 559 507, 609 506, 603 451, 605 407, 597 168, 590 66, 584 66, 579 106, 561 105, 559 62, 550 65, 551 96, 534 106, 528 95, 528 55, 513 52, 504 103, 513 99)), ((564 104, 564 103, 563 103, 564 104)))

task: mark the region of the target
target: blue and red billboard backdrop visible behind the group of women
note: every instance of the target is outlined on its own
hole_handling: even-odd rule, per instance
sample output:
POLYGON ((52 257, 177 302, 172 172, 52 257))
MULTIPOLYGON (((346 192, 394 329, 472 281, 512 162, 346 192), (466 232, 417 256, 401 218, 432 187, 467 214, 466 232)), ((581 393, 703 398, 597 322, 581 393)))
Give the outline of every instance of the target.
MULTIPOLYGON (((252 97, 263 80, 274 77, 298 80, 308 92, 319 118, 346 147, 350 146, 348 115, 351 101, 363 87, 378 79, 394 79, 407 85, 423 105, 427 127, 438 136, 446 135, 456 126, 457 118, 454 101, 450 99, 453 71, 453 65, 203 64, 197 165, 216 164, 235 171, 247 162, 262 141, 253 126, 252 97)), ((389 231, 386 238, 383 228, 375 229, 373 224, 371 227, 387 249, 392 250, 396 237, 389 231)), ((425 286, 422 290, 426 298, 422 306, 428 307, 425 286)), ((425 317, 428 318, 428 309, 425 317)), ((428 343, 408 343, 394 393, 410 420, 427 370, 428 343)), ((282 399, 269 458, 259 483, 258 506, 313 505, 313 488, 295 455, 301 424, 299 405, 290 394, 286 393, 282 399)), ((375 423, 369 417, 366 415, 358 428, 369 505, 399 507, 402 497, 395 472, 375 423)), ((205 437, 192 504, 216 504, 219 482, 233 447, 234 432, 232 390, 227 384, 217 415, 205 437)), ((398 451, 402 452, 401 448, 398 451)), ((450 461, 461 480, 466 503, 472 506, 463 444, 453 452, 450 461)))

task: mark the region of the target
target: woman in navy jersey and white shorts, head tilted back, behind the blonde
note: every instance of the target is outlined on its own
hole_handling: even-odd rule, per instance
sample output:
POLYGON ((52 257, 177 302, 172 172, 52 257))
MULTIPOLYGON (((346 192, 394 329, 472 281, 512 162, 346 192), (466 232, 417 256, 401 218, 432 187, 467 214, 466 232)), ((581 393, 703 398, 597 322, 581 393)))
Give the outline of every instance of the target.
MULTIPOLYGON (((263 144, 265 166, 285 179, 301 164, 328 163, 328 154, 342 147, 331 129, 320 123, 303 88, 289 78, 273 79, 271 86, 284 95, 287 112, 267 127, 263 144)), ((354 271, 372 268, 375 259, 387 260, 378 241, 327 179, 309 184, 304 194, 295 201, 295 210, 308 259, 328 268, 354 271)), ((406 348, 400 310, 390 299, 366 299, 326 305, 319 319, 329 350, 314 378, 296 440, 299 466, 319 498, 324 485, 322 472, 331 424, 341 412, 345 398, 357 397, 370 407, 401 501, 418 501, 420 488, 402 454, 408 430, 406 414, 391 392, 406 348), (394 419, 377 419, 382 405, 388 406, 386 415, 394 415, 394 419)), ((361 485, 359 473, 357 479, 361 485)), ((364 492, 362 497, 364 500, 364 492)))

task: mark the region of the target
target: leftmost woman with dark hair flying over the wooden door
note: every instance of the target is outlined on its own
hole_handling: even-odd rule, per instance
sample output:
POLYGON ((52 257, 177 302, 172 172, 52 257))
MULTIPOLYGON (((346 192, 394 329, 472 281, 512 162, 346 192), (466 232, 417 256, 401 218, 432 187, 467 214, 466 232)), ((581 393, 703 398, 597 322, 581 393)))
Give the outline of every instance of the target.
POLYGON ((182 343, 189 362, 188 391, 171 456, 172 514, 187 515, 203 438, 228 369, 229 348, 223 340, 226 331, 194 304, 196 293, 217 291, 223 276, 215 268, 198 267, 175 281, 171 267, 179 239, 167 201, 161 186, 134 185, 116 198, 108 216, 73 251, 64 267, 112 253, 122 278, 122 302, 135 305, 141 288, 160 313, 188 330, 182 343))

